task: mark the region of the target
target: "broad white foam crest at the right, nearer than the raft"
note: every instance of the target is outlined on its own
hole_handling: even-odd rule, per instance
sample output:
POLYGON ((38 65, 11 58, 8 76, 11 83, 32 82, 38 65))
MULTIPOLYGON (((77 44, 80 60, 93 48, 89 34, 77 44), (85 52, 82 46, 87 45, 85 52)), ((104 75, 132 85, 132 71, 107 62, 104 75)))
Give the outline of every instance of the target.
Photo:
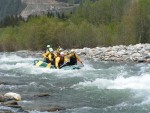
POLYGON ((150 89, 150 74, 124 78, 117 77, 114 80, 97 78, 94 81, 80 82, 72 88, 97 87, 99 89, 150 89))

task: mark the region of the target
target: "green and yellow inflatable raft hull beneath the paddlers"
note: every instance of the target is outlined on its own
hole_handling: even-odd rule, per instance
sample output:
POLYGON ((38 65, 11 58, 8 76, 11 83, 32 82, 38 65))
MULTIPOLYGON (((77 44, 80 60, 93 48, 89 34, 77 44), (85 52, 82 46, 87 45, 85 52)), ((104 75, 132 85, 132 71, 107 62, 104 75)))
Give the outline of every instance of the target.
MULTIPOLYGON (((40 60, 34 60, 34 65, 37 67, 55 69, 54 65, 49 66, 48 63, 40 60)), ((74 70, 74 69, 81 69, 81 67, 78 65, 72 65, 72 66, 64 66, 61 69, 74 70)))

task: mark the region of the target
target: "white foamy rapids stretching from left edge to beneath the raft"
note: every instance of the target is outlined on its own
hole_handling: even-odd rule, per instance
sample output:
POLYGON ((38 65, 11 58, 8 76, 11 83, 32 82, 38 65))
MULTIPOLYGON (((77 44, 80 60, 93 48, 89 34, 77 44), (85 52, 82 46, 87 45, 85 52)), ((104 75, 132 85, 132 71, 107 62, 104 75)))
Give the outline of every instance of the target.
MULTIPOLYGON (((76 74, 78 70, 58 70, 58 69, 48 69, 48 68, 41 68, 36 67, 33 65, 33 61, 36 58, 23 58, 17 56, 16 54, 7 54, 4 53, 0 55, 0 70, 14 70, 19 71, 22 74, 52 74, 55 73, 56 76, 63 76, 64 77, 73 77, 73 76, 80 76, 81 74, 76 74), (66 76, 67 75, 67 76, 66 76)), ((94 69, 88 61, 85 61, 85 65, 81 70, 92 70, 94 69)), ((81 64, 79 64, 81 65, 81 64)))

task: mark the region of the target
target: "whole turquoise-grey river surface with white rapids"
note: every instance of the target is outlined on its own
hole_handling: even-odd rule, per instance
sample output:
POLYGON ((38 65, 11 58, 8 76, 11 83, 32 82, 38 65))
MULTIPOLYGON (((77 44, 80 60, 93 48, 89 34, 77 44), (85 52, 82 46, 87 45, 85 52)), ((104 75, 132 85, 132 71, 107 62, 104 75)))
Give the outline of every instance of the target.
POLYGON ((0 82, 7 83, 0 92, 21 94, 29 113, 48 113, 40 109, 49 106, 66 108, 57 113, 150 113, 150 64, 86 59, 81 70, 50 70, 35 67, 35 59, 0 53, 0 82), (50 96, 30 98, 40 93, 50 96))

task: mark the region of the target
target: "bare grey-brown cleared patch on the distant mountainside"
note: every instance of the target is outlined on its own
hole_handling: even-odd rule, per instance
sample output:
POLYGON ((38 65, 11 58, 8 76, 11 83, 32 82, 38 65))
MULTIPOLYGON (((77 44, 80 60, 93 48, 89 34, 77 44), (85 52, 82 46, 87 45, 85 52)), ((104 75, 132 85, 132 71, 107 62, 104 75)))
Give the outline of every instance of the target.
POLYGON ((21 16, 27 18, 29 15, 41 15, 47 12, 65 12, 71 10, 75 5, 58 2, 56 0, 22 0, 26 3, 26 8, 21 12, 21 16))

